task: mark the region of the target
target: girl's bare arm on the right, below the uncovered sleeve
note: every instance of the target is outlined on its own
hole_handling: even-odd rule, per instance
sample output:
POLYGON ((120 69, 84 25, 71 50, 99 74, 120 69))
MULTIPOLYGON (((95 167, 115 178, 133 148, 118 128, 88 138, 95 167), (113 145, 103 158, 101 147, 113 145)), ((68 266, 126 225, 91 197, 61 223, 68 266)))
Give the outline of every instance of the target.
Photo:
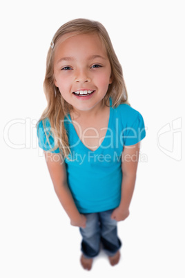
POLYGON ((137 164, 139 160, 139 147, 140 143, 124 147, 121 160, 121 169, 123 174, 121 183, 121 201, 119 207, 117 207, 111 215, 111 218, 116 221, 122 221, 129 215, 129 206, 135 188, 137 164))

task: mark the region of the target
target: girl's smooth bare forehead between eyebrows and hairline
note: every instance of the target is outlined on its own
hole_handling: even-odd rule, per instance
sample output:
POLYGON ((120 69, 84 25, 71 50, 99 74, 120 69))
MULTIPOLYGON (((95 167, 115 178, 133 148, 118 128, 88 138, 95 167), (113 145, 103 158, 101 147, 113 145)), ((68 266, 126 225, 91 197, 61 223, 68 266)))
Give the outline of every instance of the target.
POLYGON ((55 61, 62 55, 87 54, 106 55, 106 47, 97 33, 77 34, 67 33, 62 35, 55 48, 55 61))

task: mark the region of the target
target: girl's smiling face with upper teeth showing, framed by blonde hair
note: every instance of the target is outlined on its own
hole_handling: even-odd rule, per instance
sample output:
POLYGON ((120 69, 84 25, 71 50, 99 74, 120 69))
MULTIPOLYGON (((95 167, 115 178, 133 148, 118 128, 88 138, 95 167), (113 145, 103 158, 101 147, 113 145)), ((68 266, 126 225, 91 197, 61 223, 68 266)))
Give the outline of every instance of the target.
POLYGON ((77 111, 101 105, 112 83, 106 48, 97 34, 63 35, 56 46, 55 86, 77 111))

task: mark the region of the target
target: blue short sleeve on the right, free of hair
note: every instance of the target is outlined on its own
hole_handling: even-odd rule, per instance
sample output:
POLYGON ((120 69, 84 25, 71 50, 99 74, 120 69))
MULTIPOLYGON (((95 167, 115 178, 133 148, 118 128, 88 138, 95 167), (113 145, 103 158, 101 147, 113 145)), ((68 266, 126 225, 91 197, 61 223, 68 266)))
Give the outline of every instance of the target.
POLYGON ((137 144, 146 136, 144 119, 142 115, 137 112, 137 118, 130 122, 124 129, 124 145, 131 146, 137 144))

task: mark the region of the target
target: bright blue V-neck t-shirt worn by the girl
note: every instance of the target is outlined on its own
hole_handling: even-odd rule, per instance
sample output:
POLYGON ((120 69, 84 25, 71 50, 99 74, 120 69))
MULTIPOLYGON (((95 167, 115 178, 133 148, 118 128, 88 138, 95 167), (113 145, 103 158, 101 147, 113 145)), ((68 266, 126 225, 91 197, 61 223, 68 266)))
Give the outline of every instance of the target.
MULTIPOLYGON (((46 133, 50 122, 45 121, 46 133)), ((142 115, 128 104, 110 107, 106 136, 95 151, 79 140, 69 118, 65 127, 71 154, 65 158, 68 186, 80 213, 104 212, 119 206, 121 200, 121 153, 124 146, 135 145, 146 136, 142 115)), ((50 135, 49 142, 39 122, 39 147, 59 153, 50 135)))

